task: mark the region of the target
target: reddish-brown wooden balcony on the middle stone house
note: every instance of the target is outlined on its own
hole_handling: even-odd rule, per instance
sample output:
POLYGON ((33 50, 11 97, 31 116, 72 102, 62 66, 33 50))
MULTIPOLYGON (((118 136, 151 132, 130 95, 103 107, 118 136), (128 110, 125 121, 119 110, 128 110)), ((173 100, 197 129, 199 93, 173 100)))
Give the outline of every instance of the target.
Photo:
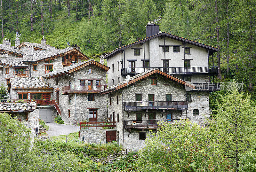
POLYGON ((105 90, 107 85, 68 85, 61 88, 62 94, 100 92, 105 90))

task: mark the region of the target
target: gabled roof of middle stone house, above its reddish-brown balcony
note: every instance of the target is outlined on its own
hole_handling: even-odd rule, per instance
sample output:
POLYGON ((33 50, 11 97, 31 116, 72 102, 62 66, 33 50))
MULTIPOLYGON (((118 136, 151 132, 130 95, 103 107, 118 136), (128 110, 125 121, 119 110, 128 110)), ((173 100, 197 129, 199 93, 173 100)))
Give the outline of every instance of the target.
POLYGON ((88 65, 95 65, 95 66, 98 66, 102 69, 105 69, 105 71, 108 71, 110 67, 108 66, 105 66, 95 60, 87 60, 87 61, 83 61, 83 62, 80 62, 80 63, 76 63, 76 64, 73 64, 71 66, 67 66, 67 67, 63 67, 57 71, 52 71, 52 72, 49 72, 48 74, 45 74, 43 75, 43 77, 45 78, 53 78, 53 77, 57 77, 57 76, 60 76, 60 75, 63 75, 63 74, 70 74, 72 72, 75 72, 76 70, 79 70, 81 69, 82 67, 84 66, 88 66, 88 65))

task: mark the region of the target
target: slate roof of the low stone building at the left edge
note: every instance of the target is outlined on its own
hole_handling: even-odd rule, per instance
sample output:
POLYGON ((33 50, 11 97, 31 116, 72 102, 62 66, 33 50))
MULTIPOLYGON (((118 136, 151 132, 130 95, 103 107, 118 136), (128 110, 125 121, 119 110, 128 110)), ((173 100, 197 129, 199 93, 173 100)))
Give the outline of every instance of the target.
POLYGON ((23 111, 23 110, 35 110, 35 102, 22 102, 22 103, 0 103, 0 112, 6 111, 23 111))

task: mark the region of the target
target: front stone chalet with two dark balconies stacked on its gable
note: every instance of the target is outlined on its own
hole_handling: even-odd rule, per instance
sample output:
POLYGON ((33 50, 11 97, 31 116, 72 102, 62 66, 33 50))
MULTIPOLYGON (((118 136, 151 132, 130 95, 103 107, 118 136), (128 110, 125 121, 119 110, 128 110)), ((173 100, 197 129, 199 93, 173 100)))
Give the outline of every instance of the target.
POLYGON ((151 69, 100 93, 108 95, 108 119, 117 122, 117 139, 128 149, 140 149, 159 122, 190 120, 204 125, 210 117, 210 91, 198 91, 199 86, 151 69))

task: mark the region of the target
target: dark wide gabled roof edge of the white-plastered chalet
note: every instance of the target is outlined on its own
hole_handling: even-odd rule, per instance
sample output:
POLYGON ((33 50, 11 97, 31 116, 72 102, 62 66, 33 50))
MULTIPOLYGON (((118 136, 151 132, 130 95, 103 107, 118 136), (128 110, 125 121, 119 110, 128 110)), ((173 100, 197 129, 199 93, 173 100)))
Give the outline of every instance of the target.
POLYGON ((186 38, 182 38, 182 37, 180 37, 180 36, 168 34, 168 33, 166 33, 166 32, 161 32, 161 33, 159 33, 159 34, 150 36, 150 37, 148 37, 148 38, 141 39, 140 41, 137 41, 137 42, 134 42, 134 43, 131 43, 131 44, 128 44, 128 45, 124 45, 124 46, 122 46, 122 47, 119 47, 119 48, 117 48, 116 50, 114 50, 114 51, 108 53, 108 54, 104 57, 104 59, 108 59, 108 58, 114 56, 115 54, 117 54, 117 53, 123 51, 123 50, 126 49, 126 48, 132 47, 132 46, 137 45, 137 44, 139 44, 139 43, 143 43, 143 42, 146 42, 146 41, 148 41, 148 40, 154 39, 154 38, 159 37, 159 36, 164 36, 164 35, 165 35, 166 37, 168 37, 168 38, 172 38, 172 39, 175 39, 175 40, 178 40, 178 41, 181 41, 181 42, 184 41, 184 42, 189 43, 189 44, 191 44, 191 45, 196 45, 196 46, 198 46, 198 47, 202 47, 202 48, 205 48, 205 49, 209 49, 209 53, 210 53, 210 54, 211 54, 212 52, 220 51, 220 49, 215 48, 215 47, 212 47, 212 46, 210 46, 210 45, 206 45, 206 44, 203 44, 203 43, 198 43, 198 42, 196 42, 196 41, 192 41, 192 40, 189 40, 189 39, 186 39, 186 38))

